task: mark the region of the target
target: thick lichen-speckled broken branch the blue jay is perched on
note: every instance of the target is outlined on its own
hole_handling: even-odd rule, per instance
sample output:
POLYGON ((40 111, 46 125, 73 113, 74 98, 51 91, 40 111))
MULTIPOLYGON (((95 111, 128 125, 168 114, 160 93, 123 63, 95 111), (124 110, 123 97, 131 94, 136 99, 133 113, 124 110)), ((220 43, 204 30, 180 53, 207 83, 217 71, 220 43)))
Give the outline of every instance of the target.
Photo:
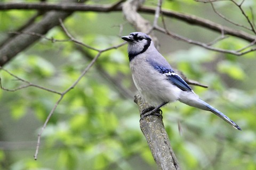
MULTIPOLYGON (((135 95, 134 102, 139 106, 140 113, 143 109, 150 107, 138 94, 135 95)), ((140 128, 158 167, 164 170, 178 170, 179 163, 172 150, 162 118, 156 115, 147 116, 140 120, 140 128)))

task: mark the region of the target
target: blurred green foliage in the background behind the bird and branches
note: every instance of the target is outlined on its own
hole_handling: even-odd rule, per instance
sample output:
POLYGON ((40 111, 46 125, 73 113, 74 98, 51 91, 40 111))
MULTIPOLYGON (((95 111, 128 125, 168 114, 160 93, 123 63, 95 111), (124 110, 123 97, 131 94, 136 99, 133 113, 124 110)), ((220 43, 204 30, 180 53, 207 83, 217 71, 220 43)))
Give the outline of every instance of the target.
MULTIPOLYGON (((245 2, 245 7, 255 7, 254 1, 245 2)), ((147 5, 155 6, 155 2, 147 1, 147 5)), ((194 1, 164 1, 163 7, 204 16, 211 16, 212 11, 209 4, 194 1)), ((230 8, 236 7, 230 7, 230 3, 219 2, 215 7, 244 23, 241 13, 231 11, 230 8), (225 12, 227 8, 230 13, 225 12)), ((250 11, 249 8, 246 10, 250 11)), ((35 11, 0 11, 0 40, 33 14, 35 11)), ((216 18, 215 15, 210 19, 215 21, 216 18)), ((226 24, 222 19, 218 20, 226 24)), ((184 23, 170 21, 173 31, 189 37, 212 39, 208 31, 195 32, 197 28, 182 27, 184 23)), ((126 24, 121 12, 77 12, 65 21, 75 38, 99 49, 123 42, 117 36, 120 29, 117 25, 120 24, 123 24, 122 35, 135 31, 126 24)), ((52 29, 46 36, 67 39, 60 28, 52 29)), ((244 41, 232 39, 215 46, 234 49, 244 45, 244 41)), ((15 92, 1 90, 0 169, 156 169, 140 131, 139 113, 133 98, 123 96, 114 86, 118 82, 132 91, 131 96, 136 91, 126 48, 125 45, 103 53, 63 98, 43 132, 36 161, 33 155, 37 133, 60 96, 35 87, 15 92)), ((5 69, 31 83, 63 92, 77 80, 91 61, 90 57, 97 54, 85 47, 83 50, 86 55, 72 42, 52 43, 42 39, 15 57, 5 69)), ((171 40, 170 46, 170 38, 166 36, 161 38, 161 52, 189 79, 207 84, 208 89, 193 87, 194 91, 243 129, 237 131, 213 114, 180 103, 164 107, 166 131, 182 169, 255 169, 255 53, 237 57, 175 40, 171 40)), ((24 84, 5 71, 0 72, 0 77, 7 89, 24 84)))

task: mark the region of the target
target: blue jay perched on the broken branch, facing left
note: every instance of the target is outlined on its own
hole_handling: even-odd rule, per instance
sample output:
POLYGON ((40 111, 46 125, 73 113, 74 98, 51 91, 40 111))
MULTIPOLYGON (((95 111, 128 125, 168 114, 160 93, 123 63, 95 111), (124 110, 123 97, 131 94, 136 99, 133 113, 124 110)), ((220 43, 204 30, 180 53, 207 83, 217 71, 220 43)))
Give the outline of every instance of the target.
POLYGON ((132 32, 129 36, 123 36, 122 39, 128 42, 130 69, 136 88, 149 104, 156 106, 151 108, 150 112, 144 112, 146 113, 144 116, 154 114, 165 104, 179 100, 189 106, 210 111, 234 128, 242 130, 226 115, 199 99, 157 51, 148 35, 142 32, 132 32))

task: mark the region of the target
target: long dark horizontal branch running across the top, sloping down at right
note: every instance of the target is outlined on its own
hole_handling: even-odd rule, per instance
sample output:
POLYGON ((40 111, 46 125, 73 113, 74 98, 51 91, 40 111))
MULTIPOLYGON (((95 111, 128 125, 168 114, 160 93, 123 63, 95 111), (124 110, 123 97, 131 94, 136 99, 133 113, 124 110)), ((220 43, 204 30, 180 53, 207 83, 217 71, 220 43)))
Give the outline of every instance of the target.
MULTIPOLYGON (((209 2, 209 1, 207 1, 209 2)), ((214 2, 214 1, 210 1, 214 2)), ((86 5, 77 3, 62 3, 62 4, 47 4, 47 3, 0 3, 0 10, 55 10, 63 12, 74 12, 74 11, 84 11, 84 12, 114 12, 122 11, 122 1, 118 4, 113 5, 86 5)), ((150 14, 155 14, 156 9, 154 7, 141 6, 138 8, 139 12, 145 12, 150 14)), ((256 38, 256 36, 246 33, 241 30, 231 29, 225 27, 221 24, 199 18, 198 16, 175 12, 171 10, 162 10, 163 15, 178 19, 180 21, 187 22, 188 24, 198 25, 200 27, 210 29, 215 32, 223 32, 225 35, 234 36, 237 38, 244 39, 250 43, 256 38)))

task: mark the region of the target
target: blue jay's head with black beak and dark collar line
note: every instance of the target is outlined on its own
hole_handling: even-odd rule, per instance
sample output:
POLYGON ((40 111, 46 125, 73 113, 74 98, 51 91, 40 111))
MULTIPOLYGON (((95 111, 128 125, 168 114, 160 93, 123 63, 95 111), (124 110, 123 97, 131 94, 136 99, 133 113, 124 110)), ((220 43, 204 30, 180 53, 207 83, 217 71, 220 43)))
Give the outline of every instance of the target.
POLYGON ((142 32, 132 32, 129 36, 123 36, 128 42, 128 53, 130 61, 138 54, 146 52, 151 43, 151 38, 142 32))

